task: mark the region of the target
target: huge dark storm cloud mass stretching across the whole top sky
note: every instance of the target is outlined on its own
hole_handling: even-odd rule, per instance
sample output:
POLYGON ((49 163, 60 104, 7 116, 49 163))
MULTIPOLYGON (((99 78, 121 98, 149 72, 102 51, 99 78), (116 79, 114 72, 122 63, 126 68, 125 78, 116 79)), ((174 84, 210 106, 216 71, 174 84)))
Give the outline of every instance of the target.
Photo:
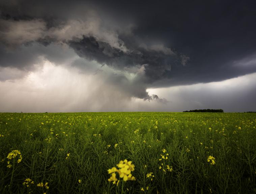
MULTIPOLYGON (((11 0, 0 5, 0 41, 17 53, 1 46, 2 67, 32 68, 44 55, 27 52, 34 42, 45 50, 67 44, 80 57, 136 74, 132 82, 120 75, 110 82, 149 100, 157 98, 148 96, 148 87, 221 81, 256 71, 251 1, 11 0)), ((52 60, 53 55, 44 56, 52 60)))

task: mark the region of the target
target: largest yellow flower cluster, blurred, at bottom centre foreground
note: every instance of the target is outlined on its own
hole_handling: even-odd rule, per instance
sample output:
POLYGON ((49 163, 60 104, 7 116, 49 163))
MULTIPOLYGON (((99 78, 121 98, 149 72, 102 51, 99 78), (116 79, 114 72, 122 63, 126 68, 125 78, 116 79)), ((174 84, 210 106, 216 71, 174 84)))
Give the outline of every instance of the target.
MULTIPOLYGON (((117 178, 116 173, 118 173, 120 178, 123 178, 124 181, 135 181, 135 177, 131 174, 131 172, 134 171, 134 164, 132 164, 132 161, 127 161, 126 159, 123 161, 121 160, 117 165, 119 169, 116 167, 113 167, 111 169, 108 169, 108 174, 111 174, 111 177, 108 179, 109 182, 113 181, 113 184, 116 184, 117 178)), ((119 180, 117 182, 118 186, 119 180)))

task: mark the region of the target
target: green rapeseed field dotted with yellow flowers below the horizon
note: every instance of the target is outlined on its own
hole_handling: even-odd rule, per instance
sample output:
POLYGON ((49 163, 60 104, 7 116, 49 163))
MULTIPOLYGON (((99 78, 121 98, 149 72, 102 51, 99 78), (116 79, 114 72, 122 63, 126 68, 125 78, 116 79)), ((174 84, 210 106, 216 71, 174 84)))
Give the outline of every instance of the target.
POLYGON ((256 193, 255 127, 256 113, 0 113, 0 193, 256 193))

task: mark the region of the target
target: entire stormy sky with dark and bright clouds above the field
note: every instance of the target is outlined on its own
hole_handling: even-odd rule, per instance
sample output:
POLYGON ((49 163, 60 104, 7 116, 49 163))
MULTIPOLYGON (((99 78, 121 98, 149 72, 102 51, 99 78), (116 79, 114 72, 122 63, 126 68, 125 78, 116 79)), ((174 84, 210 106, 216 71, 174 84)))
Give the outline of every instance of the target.
POLYGON ((0 1, 0 112, 256 111, 255 1, 0 1))

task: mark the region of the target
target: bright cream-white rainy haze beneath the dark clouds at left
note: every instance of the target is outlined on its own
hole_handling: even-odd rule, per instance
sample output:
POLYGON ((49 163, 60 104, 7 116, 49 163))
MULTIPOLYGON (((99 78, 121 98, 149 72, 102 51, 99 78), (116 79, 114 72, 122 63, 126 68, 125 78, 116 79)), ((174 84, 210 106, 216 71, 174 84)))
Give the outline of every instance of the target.
POLYGON ((85 76, 76 67, 67 69, 49 61, 42 61, 41 66, 17 82, 0 82, 0 111, 133 111, 139 104, 134 104, 132 93, 145 95, 143 85, 133 87, 125 76, 108 67, 105 72, 85 76))

